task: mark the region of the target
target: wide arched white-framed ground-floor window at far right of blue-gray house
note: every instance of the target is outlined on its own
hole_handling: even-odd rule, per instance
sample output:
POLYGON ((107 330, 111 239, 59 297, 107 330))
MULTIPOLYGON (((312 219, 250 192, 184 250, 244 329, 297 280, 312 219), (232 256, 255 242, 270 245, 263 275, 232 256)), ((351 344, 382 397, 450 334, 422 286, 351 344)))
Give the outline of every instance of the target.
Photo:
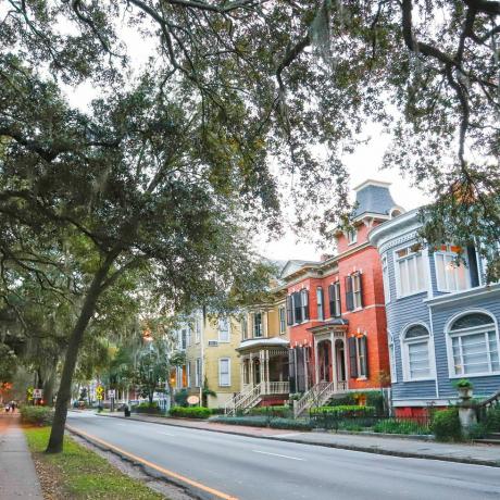
POLYGON ((449 329, 450 375, 488 375, 500 372, 498 333, 491 316, 470 313, 449 329))

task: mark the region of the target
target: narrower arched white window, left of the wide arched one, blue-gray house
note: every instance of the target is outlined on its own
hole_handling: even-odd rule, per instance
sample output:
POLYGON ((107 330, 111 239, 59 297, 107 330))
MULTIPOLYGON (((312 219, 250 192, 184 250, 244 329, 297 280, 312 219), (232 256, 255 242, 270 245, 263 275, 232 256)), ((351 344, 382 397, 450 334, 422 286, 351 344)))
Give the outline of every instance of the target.
POLYGON ((403 336, 405 380, 428 379, 433 376, 429 355, 430 335, 424 325, 413 325, 403 336))

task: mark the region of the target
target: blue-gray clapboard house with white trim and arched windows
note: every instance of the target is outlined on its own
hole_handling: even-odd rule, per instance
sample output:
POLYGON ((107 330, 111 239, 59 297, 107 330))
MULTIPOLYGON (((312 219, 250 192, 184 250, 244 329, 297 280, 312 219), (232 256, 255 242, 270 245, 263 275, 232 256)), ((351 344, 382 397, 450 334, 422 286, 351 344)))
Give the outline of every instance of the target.
POLYGON ((370 234, 383 265, 393 405, 409 415, 454 401, 457 379, 470 379, 475 396, 500 389, 500 284, 485 284, 474 247, 458 266, 452 243, 422 246, 416 214, 370 234))

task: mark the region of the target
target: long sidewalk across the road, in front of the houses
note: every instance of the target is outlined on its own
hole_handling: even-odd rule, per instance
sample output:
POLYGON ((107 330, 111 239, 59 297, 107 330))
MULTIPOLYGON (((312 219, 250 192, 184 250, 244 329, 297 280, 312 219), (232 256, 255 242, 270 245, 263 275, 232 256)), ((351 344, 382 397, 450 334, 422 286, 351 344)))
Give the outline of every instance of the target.
MULTIPOLYGON (((123 414, 101 414, 111 418, 125 418, 123 414)), ((500 467, 500 447, 488 445, 446 443, 422 439, 401 439, 392 437, 365 436, 354 434, 334 434, 326 432, 301 433, 267 427, 247 427, 226 425, 187 418, 165 418, 158 416, 133 415, 127 420, 150 422, 177 427, 198 428, 225 434, 236 434, 261 439, 274 439, 303 445, 340 448, 367 453, 395 457, 441 460, 446 462, 470 463, 500 467)))

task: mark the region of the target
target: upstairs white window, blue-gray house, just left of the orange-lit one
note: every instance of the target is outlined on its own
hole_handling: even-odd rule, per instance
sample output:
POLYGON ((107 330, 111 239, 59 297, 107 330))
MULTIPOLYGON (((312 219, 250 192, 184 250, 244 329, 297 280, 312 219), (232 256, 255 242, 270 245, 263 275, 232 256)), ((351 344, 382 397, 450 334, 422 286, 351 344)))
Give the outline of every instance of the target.
POLYGON ((413 245, 396 251, 398 297, 425 291, 427 272, 422 257, 422 246, 413 245))

